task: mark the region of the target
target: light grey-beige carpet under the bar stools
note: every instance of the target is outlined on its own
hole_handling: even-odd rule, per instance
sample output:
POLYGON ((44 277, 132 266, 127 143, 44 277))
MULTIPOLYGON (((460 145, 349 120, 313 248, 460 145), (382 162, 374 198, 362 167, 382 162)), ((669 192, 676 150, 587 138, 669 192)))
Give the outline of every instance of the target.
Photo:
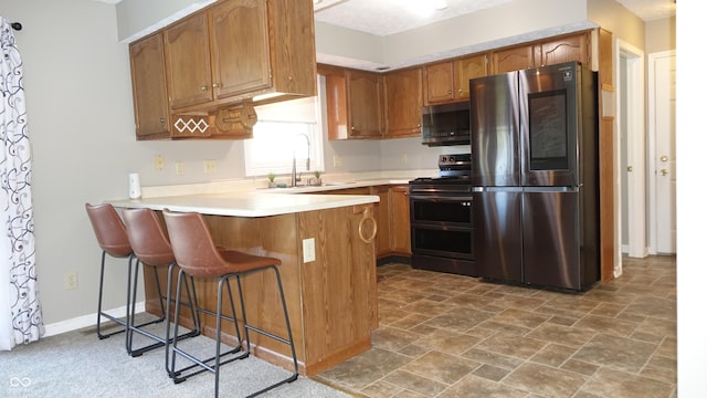
MULTIPOLYGON (((154 326, 161 333, 163 324, 154 326)), ((136 334, 136 347, 147 343, 136 334)), ((213 341, 198 336, 180 342, 213 355, 213 341)), ((256 357, 221 368, 220 396, 245 397, 292 373, 256 357)), ((165 350, 139 357, 125 350, 124 334, 98 339, 95 329, 70 332, 0 352, 0 397, 213 397, 214 377, 202 373, 175 385, 165 370, 165 350)), ((346 398, 349 395, 304 376, 261 397, 346 398)))

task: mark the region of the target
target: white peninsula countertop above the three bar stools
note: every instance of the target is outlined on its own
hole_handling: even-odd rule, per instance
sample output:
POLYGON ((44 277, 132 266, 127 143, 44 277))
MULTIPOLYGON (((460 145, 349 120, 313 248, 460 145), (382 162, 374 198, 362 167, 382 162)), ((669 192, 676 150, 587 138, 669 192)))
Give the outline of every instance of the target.
POLYGON ((334 209, 374 203, 380 199, 368 195, 277 193, 264 191, 234 191, 166 196, 143 199, 106 200, 120 208, 196 211, 203 214, 233 217, 267 217, 295 212, 334 209))

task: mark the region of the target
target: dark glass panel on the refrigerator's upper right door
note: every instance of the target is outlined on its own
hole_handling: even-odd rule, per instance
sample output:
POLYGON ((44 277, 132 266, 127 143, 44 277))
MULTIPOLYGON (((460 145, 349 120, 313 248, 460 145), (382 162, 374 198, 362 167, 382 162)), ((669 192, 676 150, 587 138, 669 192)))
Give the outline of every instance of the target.
POLYGON ((566 91, 528 94, 528 118, 530 170, 568 169, 566 91))

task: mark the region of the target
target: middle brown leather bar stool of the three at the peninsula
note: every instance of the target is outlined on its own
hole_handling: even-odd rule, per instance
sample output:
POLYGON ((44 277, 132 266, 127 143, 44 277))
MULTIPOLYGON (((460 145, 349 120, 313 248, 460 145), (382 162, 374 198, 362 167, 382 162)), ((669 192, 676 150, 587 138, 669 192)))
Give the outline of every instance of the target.
MULTIPOLYGON (((157 213, 150 209, 123 209, 123 221, 127 230, 128 240, 133 247, 135 255, 135 274, 133 282, 133 300, 129 314, 129 323, 127 329, 127 349, 128 354, 136 357, 143 355, 155 348, 163 347, 171 342, 169 337, 169 316, 170 304, 176 300, 171 297, 172 291, 172 269, 176 264, 175 254, 172 253, 167 231, 162 228, 157 213), (140 270, 140 263, 145 266, 152 269, 155 276, 155 285, 159 295, 159 305, 161 310, 161 316, 158 321, 167 318, 165 326, 165 334, 158 336, 146 329, 135 326, 135 303, 137 296, 137 281, 140 270), (158 269, 167 269, 167 291, 166 294, 161 293, 161 286, 159 283, 158 269), (167 303, 167 308, 165 308, 167 303), (133 347, 133 334, 141 334, 148 338, 151 338, 156 343, 135 349, 133 347)), ((193 328, 181 335, 178 335, 178 339, 198 336, 200 334, 199 318, 196 315, 194 306, 189 303, 191 307, 191 320, 193 322, 193 328)), ((179 320, 175 320, 179 322, 179 320)), ((165 347, 165 369, 169 371, 169 348, 165 347)))

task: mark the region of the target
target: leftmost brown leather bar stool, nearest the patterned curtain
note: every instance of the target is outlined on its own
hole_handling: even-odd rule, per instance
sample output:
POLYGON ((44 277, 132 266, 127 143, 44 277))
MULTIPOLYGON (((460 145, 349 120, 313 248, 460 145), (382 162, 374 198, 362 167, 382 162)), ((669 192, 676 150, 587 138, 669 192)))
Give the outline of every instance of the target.
MULTIPOLYGON (((98 335, 98 338, 104 339, 115 334, 127 331, 130 308, 130 274, 133 273, 133 259, 135 258, 135 255, 133 253, 133 247, 130 245, 127 232, 125 230, 125 224, 123 223, 123 220, 120 219, 118 213, 115 211, 113 205, 86 203, 86 213, 88 214, 91 226, 93 227, 96 240, 98 241, 98 247, 101 247, 101 249, 103 250, 103 254, 101 256, 101 281, 98 283, 98 315, 96 320, 96 333, 98 335), (116 259, 128 260, 128 277, 126 289, 127 293, 125 304, 126 321, 123 321, 103 311, 103 282, 106 265, 106 255, 110 255, 116 259), (114 323, 123 326, 123 329, 107 334, 101 333, 102 317, 106 317, 114 323)), ((155 323, 155 321, 144 323, 139 326, 147 326, 152 323, 155 323)), ((125 339, 125 348, 128 348, 127 333, 125 339)))

